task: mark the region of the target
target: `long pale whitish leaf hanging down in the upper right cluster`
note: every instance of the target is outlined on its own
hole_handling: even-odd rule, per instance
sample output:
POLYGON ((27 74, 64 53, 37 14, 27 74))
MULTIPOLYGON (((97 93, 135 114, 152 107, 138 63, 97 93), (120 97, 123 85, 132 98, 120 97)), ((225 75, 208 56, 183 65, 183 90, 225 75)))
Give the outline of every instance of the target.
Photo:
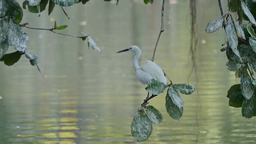
POLYGON ((239 58, 240 57, 240 53, 237 50, 237 46, 238 46, 238 38, 237 38, 237 34, 236 34, 236 30, 234 27, 234 23, 230 22, 227 26, 226 26, 226 34, 228 36, 228 43, 230 45, 230 48, 232 49, 232 51, 234 52, 234 54, 236 54, 239 58))

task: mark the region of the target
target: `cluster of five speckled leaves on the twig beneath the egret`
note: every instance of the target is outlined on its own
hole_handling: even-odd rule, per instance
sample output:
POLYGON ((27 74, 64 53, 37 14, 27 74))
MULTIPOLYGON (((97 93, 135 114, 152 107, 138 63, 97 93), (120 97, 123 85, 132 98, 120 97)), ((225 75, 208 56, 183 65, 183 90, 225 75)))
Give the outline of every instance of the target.
MULTIPOLYGON (((182 94, 192 94, 192 92, 194 92, 194 86, 191 84, 172 84, 172 82, 169 85, 165 85, 158 80, 152 79, 148 82, 145 89, 153 95, 158 95, 164 92, 164 89, 167 87, 166 111, 174 120, 179 120, 183 114, 184 101, 178 91, 182 94)), ((138 142, 147 140, 152 132, 152 123, 160 124, 162 120, 163 116, 158 109, 154 106, 142 104, 142 107, 138 109, 138 112, 132 120, 132 136, 138 142)))

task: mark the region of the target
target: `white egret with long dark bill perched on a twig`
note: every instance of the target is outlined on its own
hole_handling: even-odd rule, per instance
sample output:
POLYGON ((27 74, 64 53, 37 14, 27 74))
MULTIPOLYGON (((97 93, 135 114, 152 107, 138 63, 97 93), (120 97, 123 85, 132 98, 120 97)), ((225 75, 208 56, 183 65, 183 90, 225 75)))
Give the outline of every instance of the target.
POLYGON ((154 62, 148 60, 146 64, 139 66, 139 58, 141 55, 141 50, 138 46, 130 46, 125 50, 120 50, 120 52, 135 52, 136 55, 133 58, 134 70, 136 71, 136 77, 139 82, 143 84, 148 84, 148 82, 152 79, 158 80, 159 82, 163 82, 167 85, 167 80, 164 76, 163 70, 154 62))

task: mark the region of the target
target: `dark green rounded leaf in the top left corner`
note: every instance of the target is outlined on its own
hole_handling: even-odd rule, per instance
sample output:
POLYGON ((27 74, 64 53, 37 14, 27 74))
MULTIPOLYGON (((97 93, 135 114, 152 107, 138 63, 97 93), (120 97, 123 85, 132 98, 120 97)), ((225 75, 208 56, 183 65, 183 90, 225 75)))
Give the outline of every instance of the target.
POLYGON ((16 2, 16 0, 7 0, 7 2, 8 8, 6 16, 13 16, 13 21, 16 24, 20 24, 23 17, 23 12, 22 8, 20 7, 20 4, 16 2))

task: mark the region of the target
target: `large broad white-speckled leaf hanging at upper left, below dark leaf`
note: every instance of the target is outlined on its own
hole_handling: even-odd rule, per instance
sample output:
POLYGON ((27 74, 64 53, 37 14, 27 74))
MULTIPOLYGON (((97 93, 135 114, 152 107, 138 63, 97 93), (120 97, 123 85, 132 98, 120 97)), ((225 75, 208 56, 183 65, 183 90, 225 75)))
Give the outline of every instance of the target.
POLYGON ((24 52, 28 46, 28 35, 18 25, 9 20, 8 44, 20 52, 24 52))

